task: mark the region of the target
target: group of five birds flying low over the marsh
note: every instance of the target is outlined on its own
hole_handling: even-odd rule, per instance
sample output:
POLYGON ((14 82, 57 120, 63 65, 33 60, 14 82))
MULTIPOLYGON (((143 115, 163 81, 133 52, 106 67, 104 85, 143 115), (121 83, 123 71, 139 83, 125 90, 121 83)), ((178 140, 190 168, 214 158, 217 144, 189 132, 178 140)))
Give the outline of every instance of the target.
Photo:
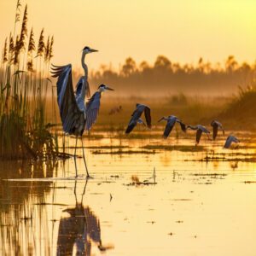
MULTIPOLYGON (((168 117, 163 116, 162 118, 160 118, 158 120, 158 122, 161 122, 162 120, 166 121, 166 128, 165 128, 165 131, 163 134, 164 138, 167 138, 170 135, 174 125, 176 123, 178 123, 183 132, 186 132, 187 129, 196 131, 195 145, 197 145, 200 142, 201 135, 203 133, 207 134, 207 137, 210 139, 211 132, 209 130, 207 130, 207 128, 203 125, 195 125, 195 126, 185 125, 183 123, 183 121, 181 119, 178 119, 177 116, 175 116, 175 115, 169 115, 168 117)), ((127 133, 127 134, 130 133, 137 124, 143 124, 144 126, 148 126, 148 128, 151 128, 151 115, 150 115, 150 108, 148 106, 143 105, 143 104, 136 105, 136 109, 131 114, 131 120, 128 124, 128 127, 127 127, 125 133, 127 133), (146 124, 144 123, 143 119, 141 118, 143 112, 145 115, 146 124)), ((218 122, 217 120, 212 120, 211 125, 212 125, 212 139, 214 141, 218 135, 218 130, 222 131, 224 134, 224 128, 223 128, 223 125, 220 122, 218 122)), ((227 137, 226 142, 224 143, 224 148, 230 148, 231 143, 239 143, 239 140, 235 136, 230 135, 229 137, 227 137)))

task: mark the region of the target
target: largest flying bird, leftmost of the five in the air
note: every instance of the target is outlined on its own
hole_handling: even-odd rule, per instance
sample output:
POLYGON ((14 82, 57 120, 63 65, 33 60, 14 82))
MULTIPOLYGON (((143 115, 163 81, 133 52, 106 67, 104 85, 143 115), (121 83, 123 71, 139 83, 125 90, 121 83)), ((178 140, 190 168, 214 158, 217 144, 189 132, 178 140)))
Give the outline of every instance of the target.
POLYGON ((133 128, 137 125, 137 123, 144 124, 143 119, 141 119, 143 112, 145 115, 147 126, 148 128, 151 128, 150 108, 146 105, 137 103, 136 109, 131 114, 131 119, 125 131, 126 134, 129 134, 133 130, 133 128))

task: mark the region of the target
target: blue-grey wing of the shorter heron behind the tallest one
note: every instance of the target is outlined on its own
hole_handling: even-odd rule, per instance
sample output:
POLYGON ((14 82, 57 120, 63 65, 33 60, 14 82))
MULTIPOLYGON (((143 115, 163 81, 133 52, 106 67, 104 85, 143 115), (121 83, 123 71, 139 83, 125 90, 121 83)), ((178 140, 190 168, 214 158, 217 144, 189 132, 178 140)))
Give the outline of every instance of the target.
POLYGON ((90 101, 86 104, 86 131, 90 131, 91 126, 96 122, 96 118, 100 109, 100 104, 101 93, 99 91, 96 91, 96 93, 90 98, 90 101))

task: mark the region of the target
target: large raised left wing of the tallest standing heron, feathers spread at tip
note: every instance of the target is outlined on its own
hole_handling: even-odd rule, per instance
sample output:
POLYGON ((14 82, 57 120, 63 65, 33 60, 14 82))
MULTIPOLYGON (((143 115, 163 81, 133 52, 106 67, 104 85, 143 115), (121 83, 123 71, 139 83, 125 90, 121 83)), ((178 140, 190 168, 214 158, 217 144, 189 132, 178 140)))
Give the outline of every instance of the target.
POLYGON ((61 67, 53 65, 51 73, 58 79, 57 97, 63 130, 73 134, 80 125, 84 125, 84 112, 79 109, 74 96, 72 67, 70 64, 61 67))

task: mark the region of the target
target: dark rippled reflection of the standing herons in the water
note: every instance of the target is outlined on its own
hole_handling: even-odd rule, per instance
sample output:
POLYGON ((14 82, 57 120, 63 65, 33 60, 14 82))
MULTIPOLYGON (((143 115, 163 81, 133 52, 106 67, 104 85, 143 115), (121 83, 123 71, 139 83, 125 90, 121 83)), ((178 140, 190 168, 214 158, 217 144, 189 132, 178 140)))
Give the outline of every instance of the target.
POLYGON ((90 255, 91 247, 95 245, 99 251, 106 251, 110 247, 102 245, 101 225, 99 218, 90 209, 84 207, 83 197, 88 181, 84 184, 81 201, 77 196, 77 180, 74 185, 75 207, 63 210, 68 213, 68 217, 60 220, 57 255, 90 255))

